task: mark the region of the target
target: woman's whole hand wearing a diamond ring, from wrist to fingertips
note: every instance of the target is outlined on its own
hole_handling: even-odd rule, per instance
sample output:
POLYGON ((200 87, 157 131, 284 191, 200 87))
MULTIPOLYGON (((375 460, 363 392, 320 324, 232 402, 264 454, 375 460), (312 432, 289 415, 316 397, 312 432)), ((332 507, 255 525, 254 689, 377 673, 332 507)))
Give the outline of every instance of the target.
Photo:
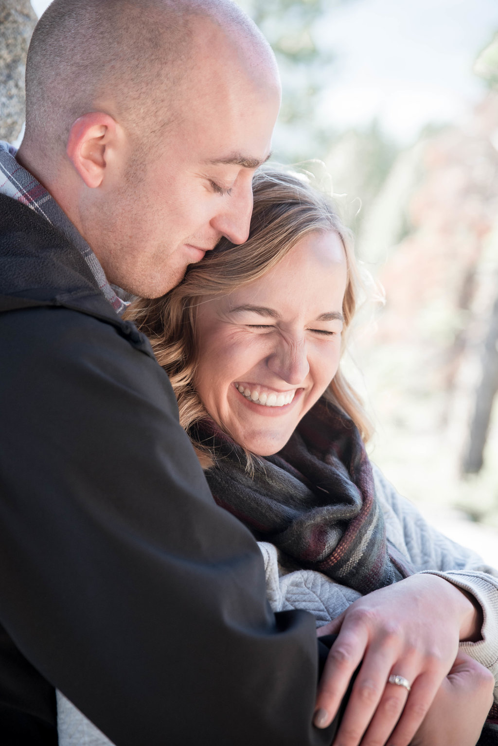
POLYGON ((337 633, 318 690, 315 725, 327 727, 362 662, 334 746, 408 746, 458 642, 479 639, 479 607, 437 575, 416 574, 351 604, 318 636, 337 633), (412 687, 388 683, 391 674, 412 687))

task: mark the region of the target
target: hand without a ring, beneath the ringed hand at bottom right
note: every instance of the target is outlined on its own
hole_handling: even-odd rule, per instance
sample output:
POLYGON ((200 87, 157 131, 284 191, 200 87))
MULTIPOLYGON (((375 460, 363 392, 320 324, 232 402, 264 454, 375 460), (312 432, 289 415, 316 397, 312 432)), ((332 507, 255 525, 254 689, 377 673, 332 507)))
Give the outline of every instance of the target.
POLYGON ((475 746, 493 704, 494 677, 462 651, 410 746, 475 746))

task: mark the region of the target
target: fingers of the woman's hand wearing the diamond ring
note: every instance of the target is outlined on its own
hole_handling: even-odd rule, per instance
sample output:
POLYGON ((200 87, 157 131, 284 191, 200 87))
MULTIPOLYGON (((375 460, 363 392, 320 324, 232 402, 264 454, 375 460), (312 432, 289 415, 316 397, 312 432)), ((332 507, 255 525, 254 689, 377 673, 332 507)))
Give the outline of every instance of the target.
POLYGON ((327 659, 318 694, 320 719, 315 724, 324 727, 330 723, 362 661, 334 744, 378 746, 398 724, 399 746, 407 746, 450 664, 440 656, 421 654, 418 645, 400 636, 394 625, 376 625, 374 636, 371 627, 372 615, 365 610, 344 619, 327 659), (388 683, 391 674, 414 683, 412 692, 388 683))

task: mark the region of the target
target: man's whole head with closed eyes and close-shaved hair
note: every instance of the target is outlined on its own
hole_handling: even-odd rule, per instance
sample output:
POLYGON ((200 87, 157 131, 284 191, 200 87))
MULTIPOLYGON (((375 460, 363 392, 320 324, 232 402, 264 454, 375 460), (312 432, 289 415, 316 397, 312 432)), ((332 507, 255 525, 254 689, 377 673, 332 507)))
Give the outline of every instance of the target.
POLYGON ((54 0, 16 155, 112 283, 156 297, 248 236, 280 106, 268 43, 231 0, 54 0))

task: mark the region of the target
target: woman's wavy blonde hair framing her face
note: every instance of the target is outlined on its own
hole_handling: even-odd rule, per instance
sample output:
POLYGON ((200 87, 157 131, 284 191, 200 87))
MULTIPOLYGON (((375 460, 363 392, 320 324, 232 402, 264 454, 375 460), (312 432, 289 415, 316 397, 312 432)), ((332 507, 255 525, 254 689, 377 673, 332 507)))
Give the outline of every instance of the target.
MULTIPOLYGON (((139 299, 127 310, 127 319, 151 340, 158 362, 166 370, 177 397, 180 424, 189 431, 207 413, 195 391, 198 358, 195 319, 207 297, 227 295, 253 282, 276 266, 294 245, 309 233, 335 231, 341 237, 347 259, 347 286, 342 313, 344 334, 356 310, 358 266, 350 232, 341 224, 330 198, 314 189, 306 177, 280 169, 265 168, 253 178, 254 207, 249 238, 243 245, 221 239, 204 259, 187 268, 183 281, 154 300, 139 299)), ((342 344, 341 354, 344 351, 342 344)), ((355 422, 363 439, 371 435, 371 424, 362 401, 347 383, 339 366, 325 396, 355 422)), ((194 444, 201 463, 209 465, 194 444)))

